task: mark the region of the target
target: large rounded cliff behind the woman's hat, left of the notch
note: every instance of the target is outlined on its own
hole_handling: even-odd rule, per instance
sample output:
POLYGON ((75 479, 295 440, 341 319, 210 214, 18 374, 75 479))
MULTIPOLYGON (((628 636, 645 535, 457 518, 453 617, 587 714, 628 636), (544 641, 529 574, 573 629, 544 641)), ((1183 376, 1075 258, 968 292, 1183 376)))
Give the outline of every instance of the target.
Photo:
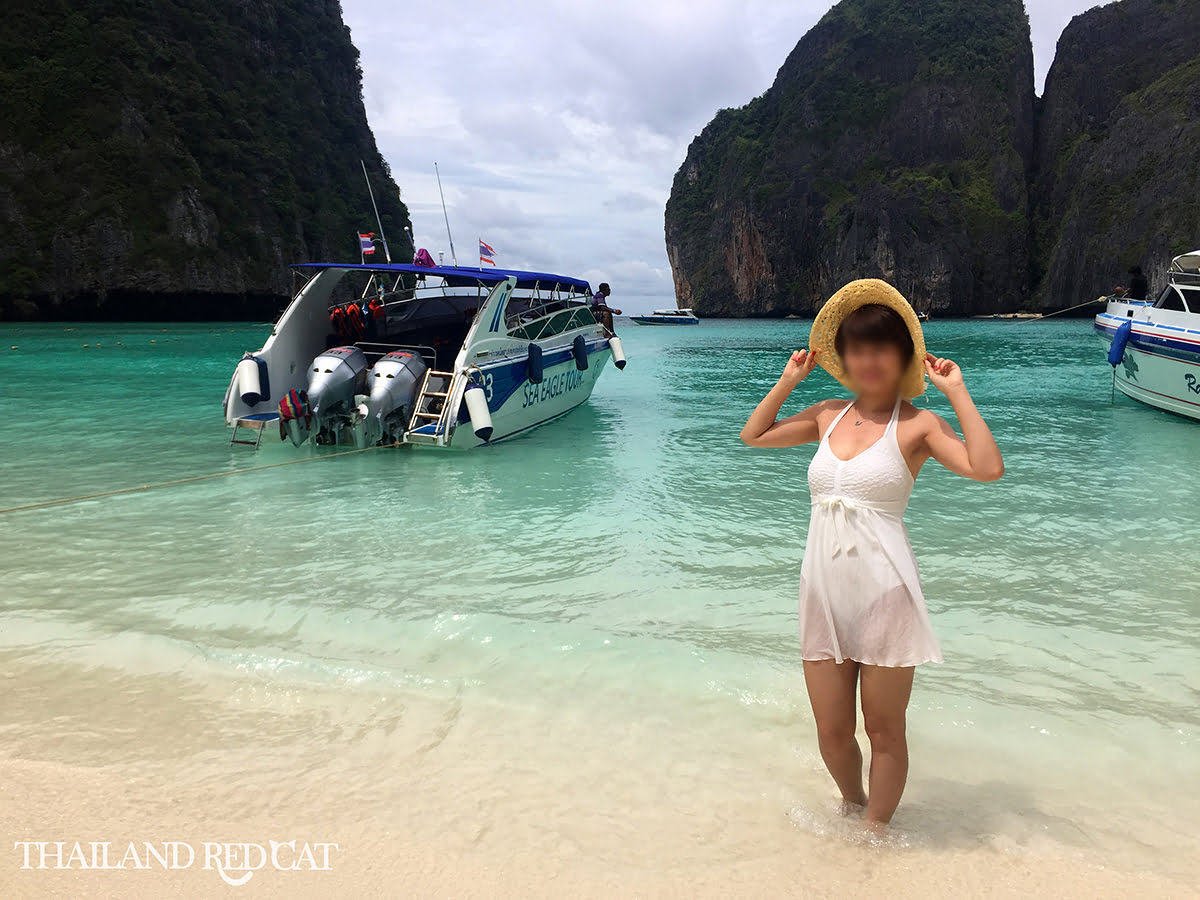
POLYGON ((1033 115, 1021 0, 842 0, 689 148, 666 209, 679 305, 805 314, 865 276, 917 308, 1026 305, 1033 115))

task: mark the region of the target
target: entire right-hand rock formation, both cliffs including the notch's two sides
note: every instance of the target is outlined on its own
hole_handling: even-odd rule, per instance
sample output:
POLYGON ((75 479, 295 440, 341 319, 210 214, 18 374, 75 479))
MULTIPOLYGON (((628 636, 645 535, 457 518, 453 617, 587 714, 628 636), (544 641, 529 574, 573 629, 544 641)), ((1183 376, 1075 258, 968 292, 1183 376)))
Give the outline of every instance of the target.
POLYGON ((878 276, 943 313, 1061 310, 1135 264, 1160 286, 1200 246, 1200 2, 1076 16, 1034 102, 1019 0, 842 0, 689 148, 679 304, 803 314, 878 276))

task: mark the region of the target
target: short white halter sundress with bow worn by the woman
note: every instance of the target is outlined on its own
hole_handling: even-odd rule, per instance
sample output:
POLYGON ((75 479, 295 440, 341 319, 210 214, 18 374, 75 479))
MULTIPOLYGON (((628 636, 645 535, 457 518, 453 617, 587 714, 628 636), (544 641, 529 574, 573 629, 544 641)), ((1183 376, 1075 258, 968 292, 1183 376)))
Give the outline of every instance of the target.
POLYGON ((833 420, 809 464, 802 656, 869 666, 941 662, 904 527, 913 479, 896 442, 900 401, 882 438, 854 458, 839 460, 829 434, 851 407, 833 420))

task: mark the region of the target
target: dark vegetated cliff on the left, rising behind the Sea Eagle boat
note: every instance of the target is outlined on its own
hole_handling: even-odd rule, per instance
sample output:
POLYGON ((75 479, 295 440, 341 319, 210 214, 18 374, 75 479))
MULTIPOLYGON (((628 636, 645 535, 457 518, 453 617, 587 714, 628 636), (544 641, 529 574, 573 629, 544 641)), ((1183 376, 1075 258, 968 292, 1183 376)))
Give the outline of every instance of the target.
POLYGON ((336 0, 17 5, 0 121, 0 317, 274 310, 377 230, 360 158, 410 258, 336 0))

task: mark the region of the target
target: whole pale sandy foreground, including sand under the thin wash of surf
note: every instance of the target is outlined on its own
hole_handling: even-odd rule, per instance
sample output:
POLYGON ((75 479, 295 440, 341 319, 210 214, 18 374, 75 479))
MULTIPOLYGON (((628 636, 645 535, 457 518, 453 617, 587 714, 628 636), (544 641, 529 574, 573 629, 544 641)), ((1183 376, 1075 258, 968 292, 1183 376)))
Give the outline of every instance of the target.
MULTIPOLYGON (((655 736, 676 740, 666 721, 617 731, 582 710, 548 722, 532 707, 497 715, 461 697, 338 708, 334 694, 253 684, 227 694, 12 662, 4 674, 4 898, 1200 896, 1180 871, 1109 865, 1086 841, 1039 841, 1058 827, 1049 816, 1020 840, 979 809, 871 845, 833 815, 811 760, 748 768, 715 734, 662 754, 655 736), (269 851, 272 840, 284 844, 283 868, 265 862, 240 887, 204 868, 205 842, 269 851), (76 841, 107 841, 110 864, 133 841, 148 868, 23 869, 19 841, 65 841, 67 856, 76 841), (187 844, 194 862, 164 869, 144 841, 187 844), (319 854, 316 866, 287 868, 305 844, 337 845, 328 869, 319 854)), ((727 742, 737 750, 743 739, 727 742)), ((913 809, 947 784, 919 768, 913 809)), ((235 856, 226 875, 242 877, 238 866, 235 856)))

